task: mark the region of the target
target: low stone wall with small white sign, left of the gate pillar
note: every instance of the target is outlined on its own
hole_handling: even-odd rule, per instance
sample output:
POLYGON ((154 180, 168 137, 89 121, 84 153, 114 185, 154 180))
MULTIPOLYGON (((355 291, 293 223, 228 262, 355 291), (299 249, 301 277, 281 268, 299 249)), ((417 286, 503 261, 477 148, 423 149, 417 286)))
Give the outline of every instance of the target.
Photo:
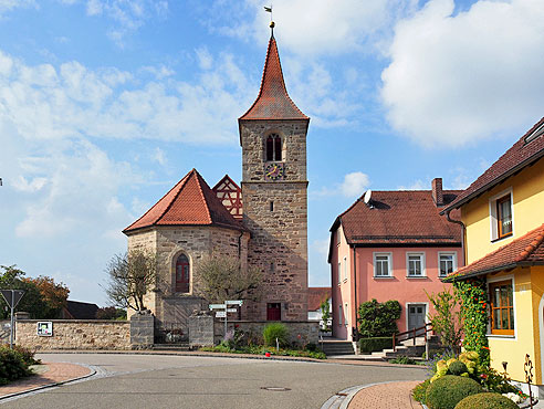
POLYGON ((24 319, 15 322, 15 344, 35 350, 130 349, 130 323, 102 319, 24 319), (53 335, 39 336, 38 322, 52 322, 53 335))

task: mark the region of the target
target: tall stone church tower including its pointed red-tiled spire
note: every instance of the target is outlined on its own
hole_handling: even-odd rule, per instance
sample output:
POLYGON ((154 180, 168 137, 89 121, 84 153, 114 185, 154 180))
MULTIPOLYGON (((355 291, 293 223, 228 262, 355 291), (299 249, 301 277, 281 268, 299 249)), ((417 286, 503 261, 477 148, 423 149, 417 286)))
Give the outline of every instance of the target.
POLYGON ((238 119, 248 262, 265 277, 252 319, 307 319, 308 122, 289 97, 272 32, 259 96, 238 119))

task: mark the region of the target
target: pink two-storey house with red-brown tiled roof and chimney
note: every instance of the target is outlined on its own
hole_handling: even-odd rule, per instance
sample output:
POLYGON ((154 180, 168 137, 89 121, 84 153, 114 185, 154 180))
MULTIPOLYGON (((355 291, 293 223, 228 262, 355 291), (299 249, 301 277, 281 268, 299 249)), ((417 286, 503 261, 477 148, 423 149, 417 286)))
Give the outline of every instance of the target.
POLYGON ((400 303, 399 332, 428 322, 426 291, 442 291, 449 284, 440 279, 464 262, 460 224, 439 214, 459 193, 442 191, 437 178, 432 190, 367 192, 336 218, 328 252, 334 337, 354 340, 357 306, 372 298, 400 303))

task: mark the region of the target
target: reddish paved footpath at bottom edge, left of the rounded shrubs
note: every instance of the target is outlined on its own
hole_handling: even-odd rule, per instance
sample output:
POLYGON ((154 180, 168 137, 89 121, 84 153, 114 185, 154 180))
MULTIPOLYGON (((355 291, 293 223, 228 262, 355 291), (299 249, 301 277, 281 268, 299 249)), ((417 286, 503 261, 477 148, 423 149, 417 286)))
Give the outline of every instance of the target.
POLYGON ((411 398, 411 390, 420 381, 387 382, 360 389, 348 409, 420 409, 411 398))

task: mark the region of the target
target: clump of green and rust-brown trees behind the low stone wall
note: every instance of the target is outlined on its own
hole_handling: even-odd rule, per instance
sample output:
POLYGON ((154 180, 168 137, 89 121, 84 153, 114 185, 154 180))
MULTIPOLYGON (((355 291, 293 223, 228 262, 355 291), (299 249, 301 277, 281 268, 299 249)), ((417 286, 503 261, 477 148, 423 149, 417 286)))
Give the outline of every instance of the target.
MULTIPOLYGON (((0 269, 3 270, 0 275, 0 289, 24 290, 24 295, 17 306, 18 311, 28 312, 33 319, 59 317, 70 293, 63 283, 55 283, 52 277, 45 275, 38 279, 25 277, 24 271, 15 265, 0 265, 0 269)), ((0 300, 0 315, 7 318, 10 311, 3 297, 0 300)))

